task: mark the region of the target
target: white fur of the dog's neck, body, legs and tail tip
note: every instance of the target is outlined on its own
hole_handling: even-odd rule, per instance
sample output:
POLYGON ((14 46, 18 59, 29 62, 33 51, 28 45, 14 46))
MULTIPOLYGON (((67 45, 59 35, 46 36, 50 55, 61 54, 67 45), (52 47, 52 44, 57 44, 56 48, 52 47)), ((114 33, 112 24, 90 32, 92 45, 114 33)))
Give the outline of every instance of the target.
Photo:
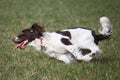
MULTIPOLYGON (((108 30, 111 30, 110 20, 107 17, 102 17, 100 18, 100 23, 103 28, 102 31, 100 30, 100 33, 110 35, 111 32, 108 32, 108 30)), ((75 59, 90 61, 93 58, 93 53, 95 56, 102 54, 99 46, 94 43, 94 37, 91 30, 76 28, 63 31, 69 31, 71 33, 71 39, 56 32, 45 32, 42 37, 42 44, 40 43, 39 39, 35 39, 29 43, 29 45, 33 46, 36 50, 39 51, 41 50, 41 47, 45 47, 46 50, 44 52, 47 55, 65 63, 70 63, 75 59), (61 42, 61 38, 67 38, 72 43, 72 45, 63 44, 61 42), (89 49, 91 52, 83 55, 79 49, 89 49)))

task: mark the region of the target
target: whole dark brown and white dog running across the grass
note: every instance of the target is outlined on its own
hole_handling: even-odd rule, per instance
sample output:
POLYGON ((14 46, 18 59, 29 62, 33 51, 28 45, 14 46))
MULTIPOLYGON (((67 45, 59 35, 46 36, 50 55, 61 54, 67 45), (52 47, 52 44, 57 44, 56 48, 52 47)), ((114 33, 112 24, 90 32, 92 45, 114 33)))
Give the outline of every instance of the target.
POLYGON ((112 24, 107 17, 101 17, 100 23, 99 35, 85 28, 47 32, 44 27, 35 23, 31 28, 22 30, 13 41, 18 44, 16 48, 33 46, 36 50, 44 50, 50 57, 65 63, 73 60, 90 61, 102 54, 98 42, 109 39, 112 33, 112 24), (89 49, 91 52, 83 55, 82 49, 89 49))

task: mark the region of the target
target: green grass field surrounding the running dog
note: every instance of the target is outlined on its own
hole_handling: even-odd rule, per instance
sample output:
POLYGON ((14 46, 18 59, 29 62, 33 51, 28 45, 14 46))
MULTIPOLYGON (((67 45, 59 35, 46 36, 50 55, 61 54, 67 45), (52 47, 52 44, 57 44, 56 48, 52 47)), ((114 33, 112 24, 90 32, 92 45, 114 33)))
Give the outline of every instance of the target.
POLYGON ((0 0, 0 80, 120 80, 120 0, 0 0), (98 33, 108 16, 114 33, 91 62, 65 64, 11 39, 34 22, 48 31, 85 26, 98 33))

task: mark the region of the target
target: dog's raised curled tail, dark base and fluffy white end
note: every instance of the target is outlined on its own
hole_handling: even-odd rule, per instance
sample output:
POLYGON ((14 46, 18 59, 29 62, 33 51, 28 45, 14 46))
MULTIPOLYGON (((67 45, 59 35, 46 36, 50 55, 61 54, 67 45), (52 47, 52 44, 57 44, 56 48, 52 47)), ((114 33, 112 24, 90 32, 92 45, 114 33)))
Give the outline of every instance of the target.
POLYGON ((101 17, 100 24, 101 24, 101 27, 99 29, 100 35, 97 35, 97 40, 101 41, 109 39, 113 31, 110 20, 107 17, 101 17))

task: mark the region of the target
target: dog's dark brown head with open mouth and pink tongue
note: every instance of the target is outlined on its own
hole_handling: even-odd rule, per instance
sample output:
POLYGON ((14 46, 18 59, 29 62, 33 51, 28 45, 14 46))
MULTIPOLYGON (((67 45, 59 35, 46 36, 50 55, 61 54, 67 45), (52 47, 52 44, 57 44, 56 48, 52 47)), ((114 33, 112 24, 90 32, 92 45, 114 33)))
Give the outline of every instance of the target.
POLYGON ((44 27, 39 26, 34 23, 31 28, 27 28, 21 31, 21 33, 13 38, 13 42, 18 44, 16 48, 24 48, 29 42, 35 40, 36 38, 40 38, 45 32, 44 27))

